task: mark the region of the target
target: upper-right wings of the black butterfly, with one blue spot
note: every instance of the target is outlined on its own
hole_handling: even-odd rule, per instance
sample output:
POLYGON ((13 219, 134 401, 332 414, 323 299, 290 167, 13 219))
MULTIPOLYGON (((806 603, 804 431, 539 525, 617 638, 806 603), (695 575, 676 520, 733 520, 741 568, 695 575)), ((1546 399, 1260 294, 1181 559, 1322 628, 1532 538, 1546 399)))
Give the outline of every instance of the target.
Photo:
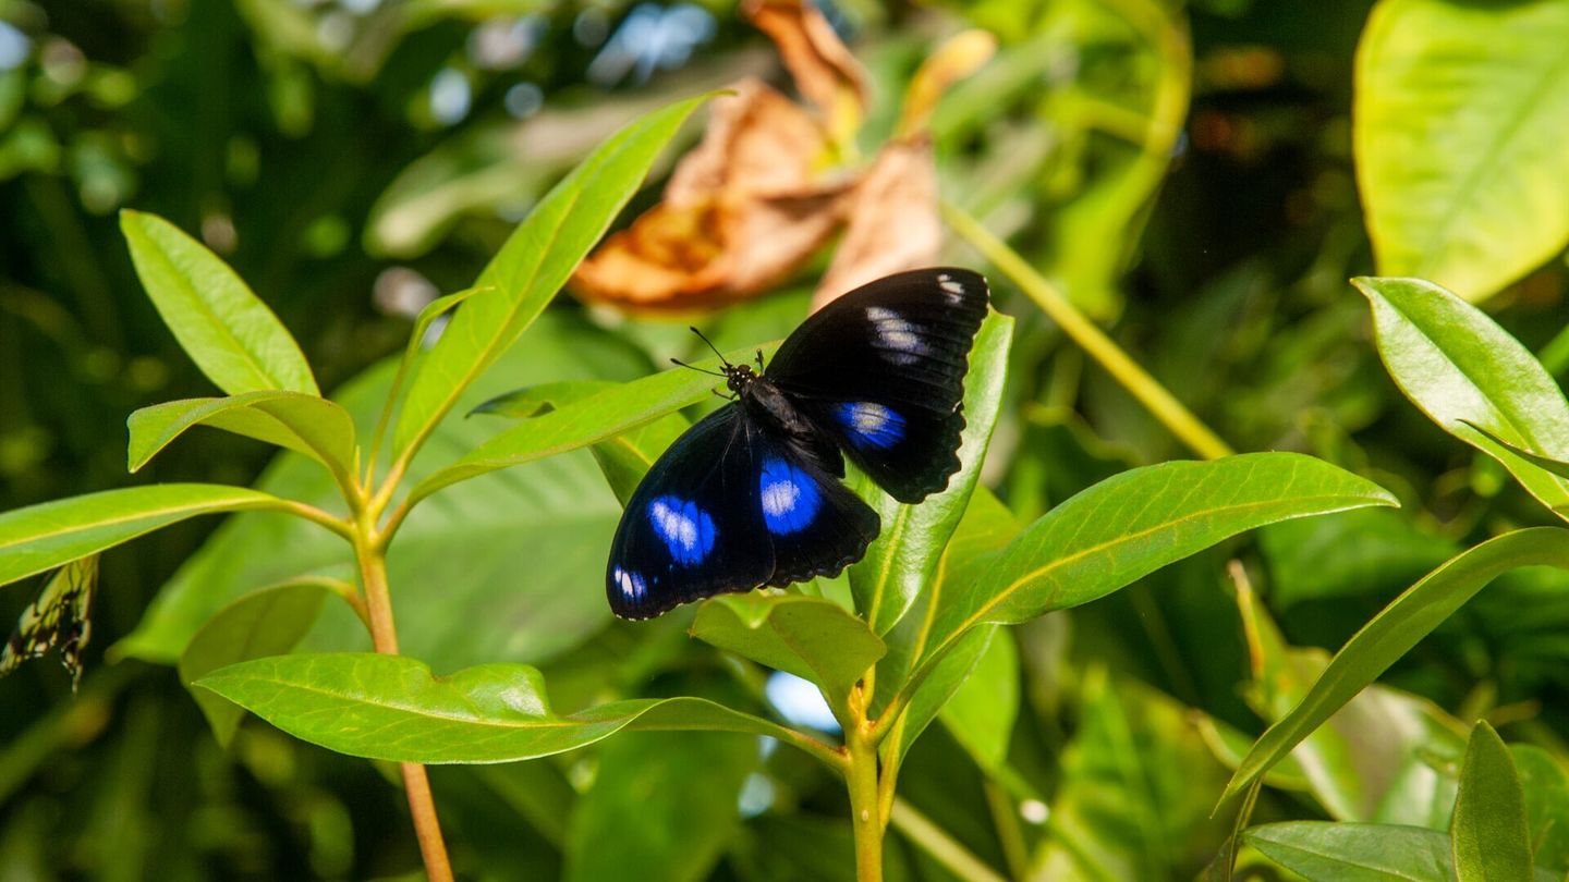
POLYGON ((919 502, 959 471, 963 378, 985 314, 979 273, 896 273, 806 319, 766 375, 890 496, 919 502))

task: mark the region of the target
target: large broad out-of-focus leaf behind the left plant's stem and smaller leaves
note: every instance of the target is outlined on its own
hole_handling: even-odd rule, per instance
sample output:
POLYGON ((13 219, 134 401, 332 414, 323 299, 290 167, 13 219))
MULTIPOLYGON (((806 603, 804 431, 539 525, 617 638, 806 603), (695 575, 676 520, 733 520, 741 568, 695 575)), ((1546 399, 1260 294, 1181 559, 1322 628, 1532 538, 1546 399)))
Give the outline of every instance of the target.
MULTIPOLYGON (((337 395, 367 436, 395 370, 388 359, 337 395)), ((648 361, 624 342, 565 312, 548 312, 469 397, 472 406, 508 386, 551 378, 624 380, 648 361)), ((416 460, 411 480, 442 458, 457 458, 494 432, 480 417, 446 421, 431 457, 416 460)), ((284 454, 262 476, 262 490, 323 507, 340 507, 329 476, 304 457, 284 454)), ((388 549, 392 607, 402 650, 444 669, 486 661, 543 664, 587 640, 612 617, 604 603, 604 554, 621 507, 587 452, 552 457, 486 476, 414 510, 388 549)), ((353 579, 347 543, 295 518, 240 515, 224 523, 158 592, 119 651, 169 664, 201 625, 235 598, 298 576, 353 579), (284 552, 287 551, 287 552, 284 552)), ((304 640, 312 650, 367 648, 364 626, 329 606, 304 640)))

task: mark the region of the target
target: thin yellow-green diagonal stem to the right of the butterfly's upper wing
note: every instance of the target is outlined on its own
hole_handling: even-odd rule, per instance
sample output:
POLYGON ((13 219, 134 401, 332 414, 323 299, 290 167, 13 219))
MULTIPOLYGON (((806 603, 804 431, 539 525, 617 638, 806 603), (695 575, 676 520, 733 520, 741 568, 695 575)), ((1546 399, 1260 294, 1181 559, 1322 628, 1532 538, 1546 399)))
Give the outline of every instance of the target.
POLYGON ((1232 455, 1232 447, 1219 435, 1183 406, 1166 386, 1161 386, 1159 380, 1150 377, 1144 367, 1128 358, 1128 353, 1122 352, 1122 347, 1079 312, 1076 306, 1062 297, 1062 292, 1056 286, 1037 273, 1006 242, 992 235, 992 231, 982 226, 981 221, 946 199, 943 201, 943 220, 948 221, 948 226, 954 232, 968 240, 982 257, 1001 270, 1003 275, 1014 279, 1014 284, 1034 300, 1062 328, 1062 333, 1072 337, 1079 348, 1111 374, 1178 441, 1207 460, 1232 455))

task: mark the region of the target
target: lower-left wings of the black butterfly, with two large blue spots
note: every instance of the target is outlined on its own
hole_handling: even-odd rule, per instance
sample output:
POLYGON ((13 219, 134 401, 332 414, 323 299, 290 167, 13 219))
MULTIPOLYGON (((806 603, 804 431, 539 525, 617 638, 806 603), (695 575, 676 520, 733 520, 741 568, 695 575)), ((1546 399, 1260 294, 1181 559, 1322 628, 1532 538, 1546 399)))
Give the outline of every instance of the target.
POLYGON ((741 405, 687 430, 617 527, 606 596, 621 618, 835 574, 877 537, 877 513, 741 405))

